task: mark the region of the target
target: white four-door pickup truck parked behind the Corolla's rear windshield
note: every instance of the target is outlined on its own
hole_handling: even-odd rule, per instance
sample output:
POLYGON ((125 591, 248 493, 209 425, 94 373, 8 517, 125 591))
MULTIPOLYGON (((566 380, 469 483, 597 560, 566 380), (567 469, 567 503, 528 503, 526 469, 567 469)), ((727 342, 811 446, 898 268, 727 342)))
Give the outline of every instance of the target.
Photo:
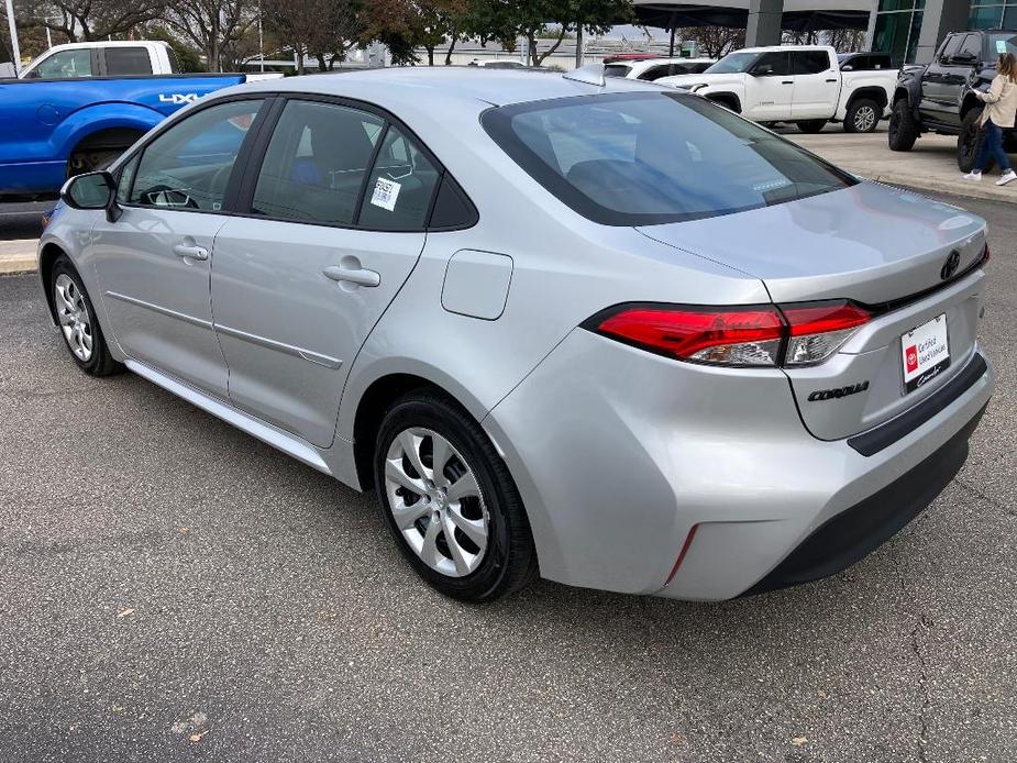
POLYGON ((756 122, 794 122, 808 133, 827 122, 843 122, 847 132, 872 132, 889 115, 897 70, 841 70, 832 47, 782 45, 747 47, 703 74, 656 82, 695 92, 756 122))

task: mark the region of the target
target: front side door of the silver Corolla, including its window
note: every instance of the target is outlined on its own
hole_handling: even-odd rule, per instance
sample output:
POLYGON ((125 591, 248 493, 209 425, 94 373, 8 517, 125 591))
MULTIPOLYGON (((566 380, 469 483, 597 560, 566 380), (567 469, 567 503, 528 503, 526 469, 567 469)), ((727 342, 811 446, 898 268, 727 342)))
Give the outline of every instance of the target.
POLYGON ((102 302, 123 351, 222 399, 210 258, 234 164, 263 104, 218 103, 159 133, 124 166, 120 218, 101 217, 92 229, 102 302))

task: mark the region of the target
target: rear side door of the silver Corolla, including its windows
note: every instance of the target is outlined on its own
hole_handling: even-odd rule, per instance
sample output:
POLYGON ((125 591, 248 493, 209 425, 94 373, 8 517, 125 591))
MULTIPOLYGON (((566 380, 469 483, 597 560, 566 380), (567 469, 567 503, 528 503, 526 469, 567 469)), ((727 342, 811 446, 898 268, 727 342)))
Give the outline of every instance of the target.
POLYGON ((261 143, 212 266, 230 400, 328 447, 354 356, 423 248, 440 172, 401 126, 341 102, 288 100, 261 143))

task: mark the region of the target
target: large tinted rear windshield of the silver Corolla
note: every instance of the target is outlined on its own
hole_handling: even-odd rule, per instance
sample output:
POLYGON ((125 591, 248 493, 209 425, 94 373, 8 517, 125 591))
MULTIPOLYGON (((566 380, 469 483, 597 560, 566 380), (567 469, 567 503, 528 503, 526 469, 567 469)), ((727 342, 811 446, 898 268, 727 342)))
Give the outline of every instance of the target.
POLYGON ((488 109, 484 128, 579 214, 649 225, 854 185, 850 175, 697 96, 583 96, 488 109))

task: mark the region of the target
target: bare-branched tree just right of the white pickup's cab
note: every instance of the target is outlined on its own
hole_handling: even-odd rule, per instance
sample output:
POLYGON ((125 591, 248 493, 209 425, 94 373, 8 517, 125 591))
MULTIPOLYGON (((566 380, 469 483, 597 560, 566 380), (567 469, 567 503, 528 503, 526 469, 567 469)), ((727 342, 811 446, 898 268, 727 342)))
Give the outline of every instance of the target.
POLYGON ((254 0, 173 0, 165 20, 204 54, 209 71, 223 71, 250 53, 257 7, 254 0))

